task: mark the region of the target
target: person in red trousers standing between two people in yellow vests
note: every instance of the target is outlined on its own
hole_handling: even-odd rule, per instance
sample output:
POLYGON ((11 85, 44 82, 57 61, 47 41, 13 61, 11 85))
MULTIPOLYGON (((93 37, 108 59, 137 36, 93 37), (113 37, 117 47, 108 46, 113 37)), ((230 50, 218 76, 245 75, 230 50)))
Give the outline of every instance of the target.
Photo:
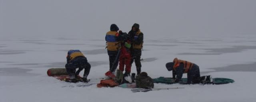
POLYGON ((121 52, 119 56, 119 70, 124 71, 124 65, 125 65, 125 73, 124 77, 130 76, 131 73, 131 51, 130 51, 130 41, 128 40, 128 34, 122 33, 122 31, 119 31, 119 34, 121 36, 121 52))

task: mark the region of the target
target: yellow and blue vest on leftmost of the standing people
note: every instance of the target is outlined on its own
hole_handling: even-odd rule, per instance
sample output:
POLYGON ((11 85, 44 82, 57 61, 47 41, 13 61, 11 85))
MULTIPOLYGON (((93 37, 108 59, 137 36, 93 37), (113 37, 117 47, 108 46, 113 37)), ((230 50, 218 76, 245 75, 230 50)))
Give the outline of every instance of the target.
POLYGON ((108 31, 106 34, 107 49, 109 51, 117 51, 119 48, 120 44, 118 44, 118 41, 116 41, 116 36, 118 36, 117 31, 108 31))

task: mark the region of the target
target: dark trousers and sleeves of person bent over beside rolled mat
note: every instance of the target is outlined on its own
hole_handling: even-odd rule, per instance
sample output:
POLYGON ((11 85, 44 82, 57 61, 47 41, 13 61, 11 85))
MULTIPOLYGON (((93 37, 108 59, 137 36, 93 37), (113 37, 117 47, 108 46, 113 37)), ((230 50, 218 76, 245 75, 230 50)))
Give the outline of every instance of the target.
POLYGON ((83 77, 87 78, 87 76, 90 73, 91 65, 88 63, 86 57, 76 57, 70 62, 68 62, 66 65, 66 71, 70 75, 70 77, 74 75, 79 75, 80 71, 84 69, 84 75, 83 77), (76 69, 78 68, 78 71, 76 69))

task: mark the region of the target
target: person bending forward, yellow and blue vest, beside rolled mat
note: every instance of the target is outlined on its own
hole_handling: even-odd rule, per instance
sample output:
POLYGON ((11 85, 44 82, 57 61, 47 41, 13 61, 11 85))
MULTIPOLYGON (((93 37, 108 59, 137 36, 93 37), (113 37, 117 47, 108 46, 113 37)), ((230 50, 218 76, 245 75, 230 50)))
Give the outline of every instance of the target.
POLYGON ((76 77, 79 75, 80 71, 84 69, 84 75, 82 80, 88 82, 87 76, 90 73, 91 65, 88 63, 87 58, 82 54, 80 50, 69 50, 67 55, 67 64, 65 65, 66 71, 70 76, 72 82, 78 82, 76 77), (78 71, 76 69, 78 68, 78 71))

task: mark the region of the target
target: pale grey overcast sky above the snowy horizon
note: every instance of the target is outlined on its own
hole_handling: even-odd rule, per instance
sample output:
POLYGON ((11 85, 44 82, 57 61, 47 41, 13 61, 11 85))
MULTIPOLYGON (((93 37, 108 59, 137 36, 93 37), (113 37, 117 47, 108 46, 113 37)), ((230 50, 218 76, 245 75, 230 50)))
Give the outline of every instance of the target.
POLYGON ((112 23, 149 36, 256 34, 256 0, 0 0, 3 37, 102 37, 112 23))

